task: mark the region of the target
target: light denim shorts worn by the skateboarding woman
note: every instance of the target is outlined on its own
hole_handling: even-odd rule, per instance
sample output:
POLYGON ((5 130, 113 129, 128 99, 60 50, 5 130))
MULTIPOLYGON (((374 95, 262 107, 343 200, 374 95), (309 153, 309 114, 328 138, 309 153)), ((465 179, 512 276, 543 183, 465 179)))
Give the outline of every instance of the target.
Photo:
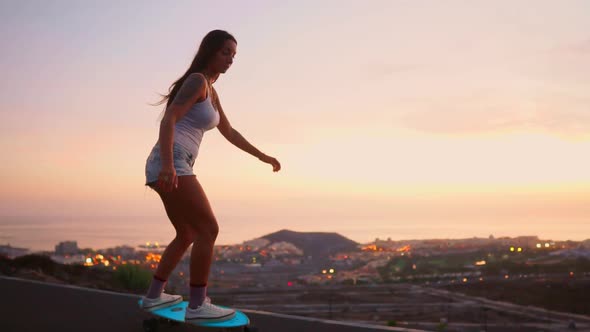
MULTIPOLYGON (((196 155, 193 156, 186 148, 176 142, 173 145, 172 155, 176 176, 195 175, 193 165, 195 164, 195 159, 197 159, 196 155)), ((153 185, 154 182, 158 181, 158 175, 161 169, 160 144, 156 143, 145 163, 145 184, 153 185)))

